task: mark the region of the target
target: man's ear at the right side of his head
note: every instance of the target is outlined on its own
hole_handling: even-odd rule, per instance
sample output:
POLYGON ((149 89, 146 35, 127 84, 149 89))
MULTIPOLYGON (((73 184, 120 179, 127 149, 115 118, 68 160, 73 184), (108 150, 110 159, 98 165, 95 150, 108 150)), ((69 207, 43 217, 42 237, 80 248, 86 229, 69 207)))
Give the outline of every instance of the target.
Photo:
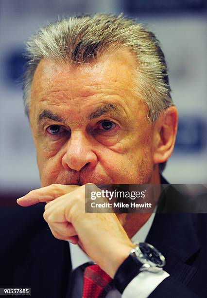
POLYGON ((154 127, 154 164, 164 163, 173 153, 177 133, 178 112, 175 107, 164 110, 154 127))

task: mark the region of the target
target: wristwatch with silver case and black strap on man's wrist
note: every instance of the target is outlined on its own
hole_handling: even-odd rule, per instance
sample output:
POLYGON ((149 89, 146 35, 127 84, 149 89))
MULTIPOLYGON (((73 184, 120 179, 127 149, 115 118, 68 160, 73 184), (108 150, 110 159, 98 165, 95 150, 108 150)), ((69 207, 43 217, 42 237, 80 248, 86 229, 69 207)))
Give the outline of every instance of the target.
POLYGON ((151 244, 135 242, 128 258, 120 265, 114 283, 122 294, 129 282, 141 271, 158 273, 165 265, 165 257, 151 244))

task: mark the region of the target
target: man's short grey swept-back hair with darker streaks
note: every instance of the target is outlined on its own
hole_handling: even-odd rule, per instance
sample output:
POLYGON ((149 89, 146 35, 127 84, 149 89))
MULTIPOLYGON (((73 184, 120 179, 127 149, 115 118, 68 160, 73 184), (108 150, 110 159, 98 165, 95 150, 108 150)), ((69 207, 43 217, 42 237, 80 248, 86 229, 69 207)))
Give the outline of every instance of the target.
POLYGON ((137 61, 133 70, 137 79, 135 95, 146 103, 147 117, 154 122, 160 112, 173 105, 165 57, 155 35, 122 14, 60 19, 29 38, 23 79, 25 113, 29 116, 31 84, 41 59, 78 66, 97 61, 107 51, 113 53, 120 47, 129 50, 137 61))

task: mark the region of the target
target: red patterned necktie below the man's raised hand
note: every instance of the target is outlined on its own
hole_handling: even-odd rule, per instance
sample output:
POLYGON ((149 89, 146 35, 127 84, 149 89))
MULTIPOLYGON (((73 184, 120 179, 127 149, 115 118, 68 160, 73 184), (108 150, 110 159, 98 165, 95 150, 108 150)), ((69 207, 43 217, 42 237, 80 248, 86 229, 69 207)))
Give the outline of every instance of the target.
POLYGON ((111 288, 113 279, 99 265, 87 266, 84 272, 82 298, 104 298, 111 288))

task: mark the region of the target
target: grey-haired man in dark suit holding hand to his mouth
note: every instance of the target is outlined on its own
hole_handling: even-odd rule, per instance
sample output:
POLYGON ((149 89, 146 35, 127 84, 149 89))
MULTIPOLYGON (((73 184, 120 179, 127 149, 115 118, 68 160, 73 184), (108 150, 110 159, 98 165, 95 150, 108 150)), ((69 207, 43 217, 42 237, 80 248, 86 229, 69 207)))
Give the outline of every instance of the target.
POLYGON ((153 33, 122 16, 85 16, 42 28, 30 38, 27 50, 24 103, 41 188, 17 203, 47 204, 12 214, 17 226, 16 233, 13 228, 10 233, 20 244, 5 285, 31 287, 33 297, 79 297, 82 292, 83 297, 204 297, 199 267, 204 251, 192 228, 192 221, 198 228, 201 219, 85 213, 88 183, 167 183, 160 167, 173 152, 177 110, 153 33), (143 226, 143 242, 148 235, 147 242, 166 257, 159 273, 140 272, 140 266, 130 272, 132 237, 140 241, 143 226), (97 264, 89 271, 84 268, 82 277, 69 274, 67 241, 97 264), (107 291, 93 282, 99 274, 104 274, 98 279, 107 291), (76 283, 83 284, 83 290, 76 283))

